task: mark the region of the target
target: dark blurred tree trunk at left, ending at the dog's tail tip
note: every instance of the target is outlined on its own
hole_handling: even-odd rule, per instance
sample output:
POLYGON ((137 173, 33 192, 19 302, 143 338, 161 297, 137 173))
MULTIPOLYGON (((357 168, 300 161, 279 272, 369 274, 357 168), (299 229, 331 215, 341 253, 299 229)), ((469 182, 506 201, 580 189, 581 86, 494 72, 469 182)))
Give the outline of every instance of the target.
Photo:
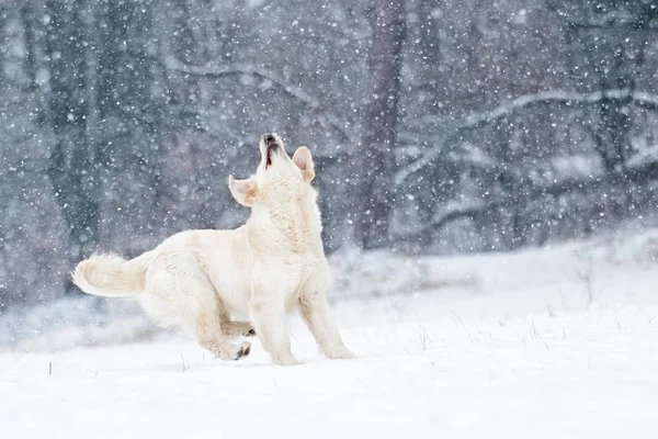
MULTIPOLYGON (((50 72, 49 124, 55 134, 48 177, 67 224, 67 262, 73 267, 98 241, 98 164, 87 135, 88 75, 83 44, 84 2, 49 1, 46 53, 50 72)), ((67 292, 73 291, 67 281, 67 292)))

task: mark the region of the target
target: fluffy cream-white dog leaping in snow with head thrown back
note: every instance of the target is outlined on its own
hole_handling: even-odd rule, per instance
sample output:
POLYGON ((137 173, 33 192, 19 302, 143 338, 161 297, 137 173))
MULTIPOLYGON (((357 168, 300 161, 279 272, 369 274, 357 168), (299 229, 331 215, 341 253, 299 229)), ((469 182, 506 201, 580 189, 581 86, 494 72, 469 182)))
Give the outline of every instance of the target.
POLYGON ((300 147, 291 159, 274 134, 263 135, 259 146, 256 175, 228 180, 232 196, 251 207, 245 225, 182 232, 132 260, 92 256, 76 267, 73 282, 90 294, 136 296, 162 323, 192 328, 200 345, 222 359, 248 356, 249 342, 228 339, 256 329, 272 361, 298 363, 285 325, 285 313, 295 308, 322 353, 354 358, 327 306, 329 273, 310 151, 300 147), (231 314, 249 318, 253 328, 231 322, 231 314))

